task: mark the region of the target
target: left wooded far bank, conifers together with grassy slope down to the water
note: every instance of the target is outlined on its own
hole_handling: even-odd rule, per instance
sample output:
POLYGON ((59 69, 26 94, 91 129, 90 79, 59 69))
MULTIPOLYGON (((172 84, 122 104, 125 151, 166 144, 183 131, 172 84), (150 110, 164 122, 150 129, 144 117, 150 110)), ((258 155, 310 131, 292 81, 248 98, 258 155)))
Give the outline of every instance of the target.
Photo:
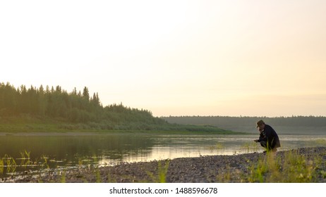
POLYGON ((162 118, 154 117, 149 110, 126 107, 122 103, 102 106, 99 94, 90 94, 87 87, 84 87, 83 91, 75 88, 68 92, 60 86, 41 85, 37 88, 21 85, 16 88, 8 82, 0 83, 0 132, 8 130, 4 125, 19 125, 26 122, 35 124, 50 122, 59 125, 60 129, 68 130, 225 132, 211 126, 170 124, 162 118))

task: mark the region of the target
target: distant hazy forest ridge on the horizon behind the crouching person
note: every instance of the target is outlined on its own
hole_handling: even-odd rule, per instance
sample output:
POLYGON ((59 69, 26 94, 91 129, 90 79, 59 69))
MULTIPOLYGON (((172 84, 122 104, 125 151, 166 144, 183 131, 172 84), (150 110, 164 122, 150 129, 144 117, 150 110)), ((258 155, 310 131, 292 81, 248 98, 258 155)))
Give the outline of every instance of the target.
POLYGON ((280 134, 325 134, 326 117, 324 116, 291 116, 291 117, 230 117, 230 116, 169 116, 162 117, 170 123, 212 125, 235 132, 257 133, 256 122, 264 120, 280 134))

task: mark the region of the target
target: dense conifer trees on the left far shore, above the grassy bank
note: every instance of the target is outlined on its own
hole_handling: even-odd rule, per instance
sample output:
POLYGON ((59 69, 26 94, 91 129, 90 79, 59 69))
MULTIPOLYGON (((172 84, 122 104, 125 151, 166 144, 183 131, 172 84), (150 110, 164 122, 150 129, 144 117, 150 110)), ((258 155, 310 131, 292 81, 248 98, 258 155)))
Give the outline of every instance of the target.
POLYGON ((153 125, 168 125, 167 121, 153 117, 149 110, 128 108, 120 104, 102 106, 98 93, 68 92, 60 86, 16 88, 0 83, 0 116, 19 115, 51 117, 71 123, 87 123, 97 129, 151 129, 153 125))

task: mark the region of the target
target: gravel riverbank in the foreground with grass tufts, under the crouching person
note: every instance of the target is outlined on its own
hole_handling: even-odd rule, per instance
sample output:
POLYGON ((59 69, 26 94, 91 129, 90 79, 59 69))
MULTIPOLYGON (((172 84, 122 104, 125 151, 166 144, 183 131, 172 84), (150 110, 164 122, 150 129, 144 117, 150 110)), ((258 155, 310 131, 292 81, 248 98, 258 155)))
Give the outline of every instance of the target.
POLYGON ((326 147, 88 166, 1 182, 326 182, 326 147))

